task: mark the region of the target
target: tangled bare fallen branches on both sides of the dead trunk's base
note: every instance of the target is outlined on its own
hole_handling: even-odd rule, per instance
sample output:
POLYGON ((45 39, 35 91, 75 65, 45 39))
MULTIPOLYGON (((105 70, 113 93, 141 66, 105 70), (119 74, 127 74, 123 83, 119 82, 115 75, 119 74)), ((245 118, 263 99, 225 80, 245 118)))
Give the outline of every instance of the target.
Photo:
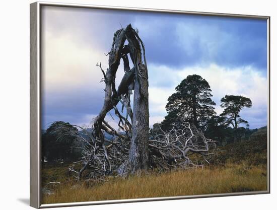
MULTIPOLYGON (((68 124, 64 123, 64 126, 68 124)), ((105 147, 103 147, 90 129, 73 126, 78 127, 79 132, 73 131, 70 135, 77 137, 77 147, 82 149, 83 158, 75 162, 70 170, 75 172, 79 179, 85 170, 86 179, 104 179, 106 175, 112 174, 122 175, 119 170, 129 160, 130 137, 110 128, 110 133, 113 133, 112 138, 104 137, 105 147), (84 167, 77 171, 75 166, 80 162, 84 163, 84 167)), ((62 128, 59 127, 59 129, 62 128)), ((149 135, 149 169, 165 171, 174 168, 203 167, 205 163, 209 164, 216 149, 216 142, 206 138, 202 131, 191 123, 183 123, 181 128, 172 128, 169 131, 163 131, 160 127, 150 129, 149 135)))

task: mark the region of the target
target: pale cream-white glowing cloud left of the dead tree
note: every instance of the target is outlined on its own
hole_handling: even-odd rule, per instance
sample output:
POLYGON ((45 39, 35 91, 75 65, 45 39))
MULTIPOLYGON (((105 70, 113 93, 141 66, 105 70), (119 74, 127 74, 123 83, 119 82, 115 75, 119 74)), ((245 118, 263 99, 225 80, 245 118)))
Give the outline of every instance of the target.
MULTIPOLYGON (((80 89, 99 83, 103 75, 96 63, 107 63, 104 52, 79 45, 71 35, 45 31, 42 46, 42 83, 48 91, 80 89)), ((103 67, 104 67, 103 66, 103 67)))

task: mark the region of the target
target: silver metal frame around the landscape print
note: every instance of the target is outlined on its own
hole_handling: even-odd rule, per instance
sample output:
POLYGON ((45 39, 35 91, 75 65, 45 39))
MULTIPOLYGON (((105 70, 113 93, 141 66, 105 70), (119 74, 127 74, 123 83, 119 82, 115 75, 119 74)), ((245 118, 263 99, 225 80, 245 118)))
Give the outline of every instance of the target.
POLYGON ((108 203, 127 203, 155 200, 173 200, 200 197, 219 197, 232 195, 253 195, 270 193, 270 17, 254 15, 237 15, 221 13, 203 13, 177 10, 157 10, 146 8, 128 8, 95 6, 83 4, 64 4, 50 2, 36 2, 30 4, 30 205, 35 208, 77 206, 77 205, 96 205, 108 203), (238 17, 267 20, 267 190, 252 192, 220 193, 205 195, 186 195, 174 197, 155 197, 139 199, 121 199, 105 201, 71 202, 71 203, 53 203, 41 204, 41 7, 73 7, 73 8, 94 8, 122 11, 147 11, 159 13, 191 14, 201 16, 221 16, 238 17))

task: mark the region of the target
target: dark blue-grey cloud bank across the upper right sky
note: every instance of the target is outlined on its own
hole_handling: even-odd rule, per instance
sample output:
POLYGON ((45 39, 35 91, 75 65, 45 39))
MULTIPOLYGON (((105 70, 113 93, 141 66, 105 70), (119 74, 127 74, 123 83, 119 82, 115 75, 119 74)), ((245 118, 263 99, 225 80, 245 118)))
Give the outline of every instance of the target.
POLYGON ((192 15, 137 16, 134 25, 153 64, 180 68, 218 63, 266 73, 266 21, 192 15))

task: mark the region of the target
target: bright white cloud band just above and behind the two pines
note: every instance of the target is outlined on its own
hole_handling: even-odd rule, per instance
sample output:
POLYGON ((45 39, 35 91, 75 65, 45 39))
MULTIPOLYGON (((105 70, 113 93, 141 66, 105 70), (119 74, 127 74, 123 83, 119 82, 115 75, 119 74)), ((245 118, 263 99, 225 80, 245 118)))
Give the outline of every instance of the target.
POLYGON ((198 74, 209 82, 217 101, 225 95, 243 95, 249 97, 255 106, 267 103, 267 79, 252 66, 229 68, 212 63, 206 67, 188 67, 178 72, 182 78, 192 74, 198 74))

